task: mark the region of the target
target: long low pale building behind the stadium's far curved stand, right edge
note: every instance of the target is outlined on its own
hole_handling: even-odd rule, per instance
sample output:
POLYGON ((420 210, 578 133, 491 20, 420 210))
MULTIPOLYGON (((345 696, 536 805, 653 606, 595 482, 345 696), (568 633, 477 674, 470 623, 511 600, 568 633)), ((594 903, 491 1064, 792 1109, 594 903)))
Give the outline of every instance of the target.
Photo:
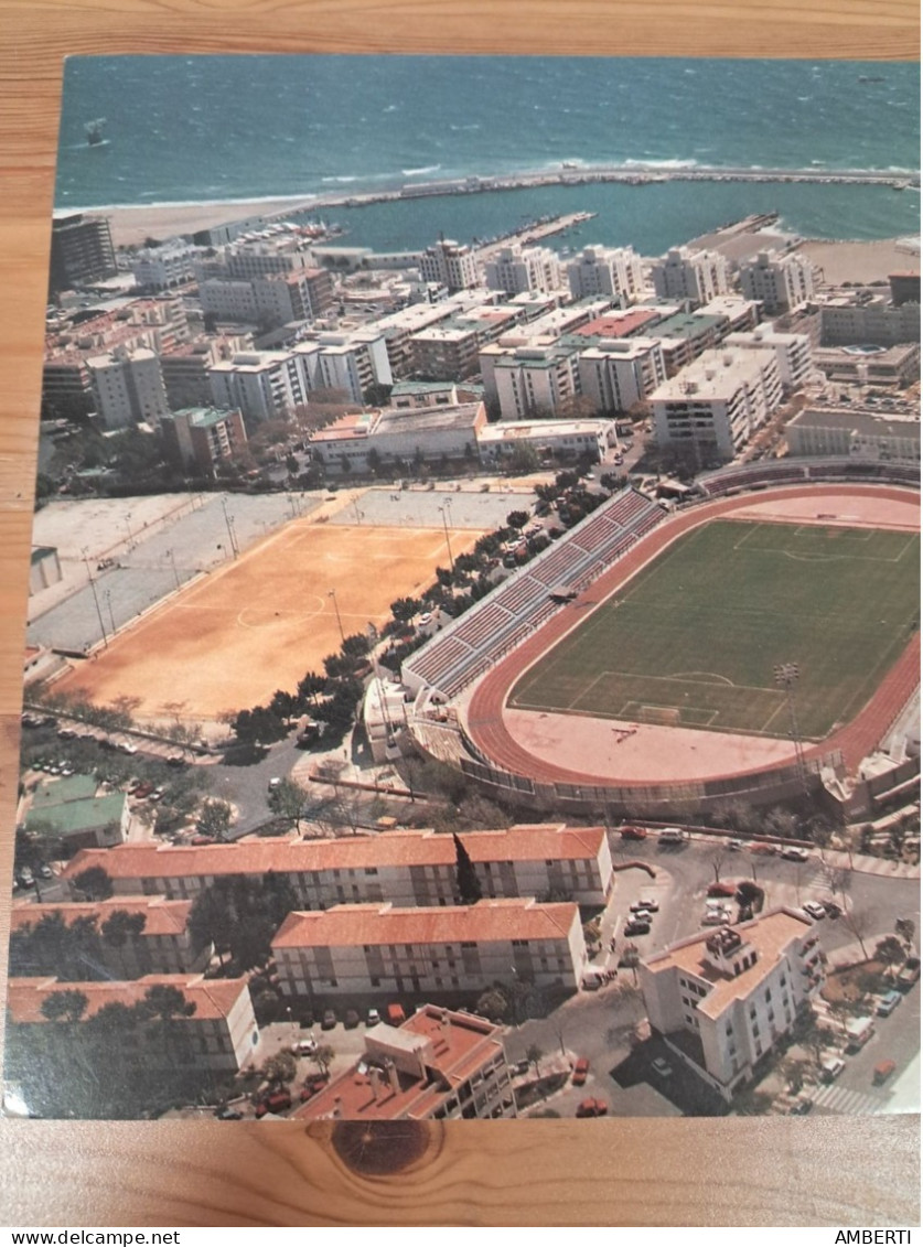
POLYGON ((806 408, 786 425, 792 455, 848 455, 881 463, 919 464, 919 412, 806 408))

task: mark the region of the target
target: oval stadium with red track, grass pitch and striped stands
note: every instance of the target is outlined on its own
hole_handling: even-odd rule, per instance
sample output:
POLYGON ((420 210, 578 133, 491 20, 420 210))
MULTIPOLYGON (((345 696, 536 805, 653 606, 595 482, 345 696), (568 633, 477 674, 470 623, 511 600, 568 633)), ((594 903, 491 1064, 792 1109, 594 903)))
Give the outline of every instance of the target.
POLYGON ((417 743, 535 809, 848 794, 918 687, 916 486, 786 459, 674 511, 621 490, 404 663, 417 743))

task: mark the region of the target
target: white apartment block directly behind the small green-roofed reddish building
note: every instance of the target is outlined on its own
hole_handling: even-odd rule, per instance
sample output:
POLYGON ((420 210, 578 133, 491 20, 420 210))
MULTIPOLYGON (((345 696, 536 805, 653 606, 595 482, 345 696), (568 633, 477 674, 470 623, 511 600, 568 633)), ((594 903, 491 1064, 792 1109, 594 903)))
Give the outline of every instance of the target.
POLYGON ((239 410, 248 428, 287 419, 313 388, 299 357, 288 350, 241 352, 220 360, 208 369, 208 384, 212 405, 239 410))

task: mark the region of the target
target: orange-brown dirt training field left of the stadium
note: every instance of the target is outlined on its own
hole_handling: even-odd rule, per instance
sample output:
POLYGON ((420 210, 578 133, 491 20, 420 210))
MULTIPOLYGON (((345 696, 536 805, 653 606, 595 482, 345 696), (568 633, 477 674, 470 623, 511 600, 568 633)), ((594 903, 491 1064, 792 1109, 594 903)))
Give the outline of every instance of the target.
MULTIPOLYGON (((476 531, 450 530, 455 555, 476 531)), ((383 625, 448 565, 442 529, 321 526, 298 520, 178 594, 61 680, 94 702, 140 700, 137 717, 216 720, 293 691, 349 636, 383 625), (331 590, 336 597, 331 597, 331 590)))

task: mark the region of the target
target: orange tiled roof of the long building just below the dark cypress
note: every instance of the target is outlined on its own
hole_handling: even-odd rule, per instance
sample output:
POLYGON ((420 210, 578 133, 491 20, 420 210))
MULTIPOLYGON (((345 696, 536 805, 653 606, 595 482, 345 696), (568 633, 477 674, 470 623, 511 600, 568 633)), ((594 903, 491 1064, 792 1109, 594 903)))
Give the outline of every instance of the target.
POLYGON ((528 899, 479 900, 452 908, 394 908, 384 904, 334 905, 294 910, 272 940, 273 948, 357 944, 489 944, 513 939, 566 939, 577 907, 573 902, 539 904, 528 899))

